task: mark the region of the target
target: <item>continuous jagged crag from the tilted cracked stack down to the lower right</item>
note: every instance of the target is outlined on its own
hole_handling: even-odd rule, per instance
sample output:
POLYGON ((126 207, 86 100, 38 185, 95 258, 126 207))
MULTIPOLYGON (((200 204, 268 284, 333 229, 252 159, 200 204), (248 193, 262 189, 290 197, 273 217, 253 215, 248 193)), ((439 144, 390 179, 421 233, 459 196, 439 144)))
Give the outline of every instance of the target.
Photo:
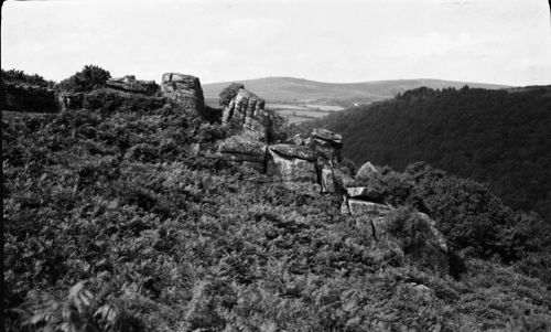
POLYGON ((271 121, 273 114, 264 109, 263 99, 240 84, 233 84, 220 94, 220 105, 225 106, 223 126, 237 130, 219 142, 218 158, 278 178, 291 190, 341 195, 342 213, 369 225, 374 240, 397 243, 408 255, 441 274, 447 272, 447 245, 435 222, 426 214, 415 213, 415 224, 404 226, 415 229, 415 235, 399 234, 395 229, 399 210, 382 204, 381 193, 365 184, 379 175, 378 170, 366 162, 353 174, 341 164, 341 135, 314 129, 307 137, 295 135, 284 141, 271 141, 269 132, 277 129, 271 121), (414 236, 423 242, 412 246, 409 237, 414 236))

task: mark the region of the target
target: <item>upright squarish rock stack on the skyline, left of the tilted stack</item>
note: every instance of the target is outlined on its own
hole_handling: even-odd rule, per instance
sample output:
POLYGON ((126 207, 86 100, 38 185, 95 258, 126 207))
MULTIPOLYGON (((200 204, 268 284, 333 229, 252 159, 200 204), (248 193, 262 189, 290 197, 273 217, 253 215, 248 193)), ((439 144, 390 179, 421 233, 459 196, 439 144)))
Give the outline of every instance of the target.
POLYGON ((177 73, 166 73, 162 76, 161 90, 185 109, 203 111, 205 99, 203 88, 197 77, 177 73))

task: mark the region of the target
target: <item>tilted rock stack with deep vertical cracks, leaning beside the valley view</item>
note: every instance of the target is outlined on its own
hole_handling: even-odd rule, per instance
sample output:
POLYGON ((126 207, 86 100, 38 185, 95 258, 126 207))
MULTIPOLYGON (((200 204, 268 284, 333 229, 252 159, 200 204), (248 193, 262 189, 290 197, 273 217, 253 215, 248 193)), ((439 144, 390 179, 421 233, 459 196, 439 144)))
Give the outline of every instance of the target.
POLYGON ((242 135, 267 142, 273 114, 264 109, 264 99, 253 93, 239 88, 237 95, 225 107, 223 125, 242 130, 242 135))

